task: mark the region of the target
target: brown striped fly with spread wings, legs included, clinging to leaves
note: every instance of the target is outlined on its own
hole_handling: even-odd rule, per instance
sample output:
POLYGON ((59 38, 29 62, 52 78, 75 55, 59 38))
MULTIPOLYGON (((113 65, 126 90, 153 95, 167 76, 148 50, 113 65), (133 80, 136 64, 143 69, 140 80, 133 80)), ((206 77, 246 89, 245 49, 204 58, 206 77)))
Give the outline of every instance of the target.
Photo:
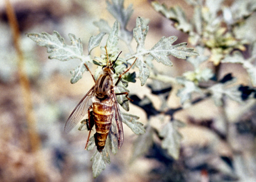
MULTIPOLYGON (((106 46, 105 46, 106 50, 106 46)), ((119 55, 121 52, 119 53, 119 55)), ((119 57, 117 56, 117 58, 119 57)), ((87 127, 89 130, 89 136, 87 139, 86 147, 89 142, 90 134, 93 125, 95 124, 96 133, 94 134, 95 145, 98 151, 102 151, 105 146, 106 138, 108 137, 109 131, 115 134, 118 143, 118 149, 123 143, 123 126, 120 110, 117 102, 116 95, 124 95, 127 97, 128 93, 115 93, 115 87, 120 82, 121 77, 124 73, 130 70, 137 59, 133 62, 130 68, 119 75, 117 82, 114 84, 113 75, 115 74, 115 63, 117 58, 112 63, 109 60, 108 51, 106 50, 107 64, 102 67, 102 73, 98 79, 95 80, 93 74, 86 64, 86 68, 90 71, 95 85, 89 90, 89 92, 80 100, 78 105, 75 107, 71 115, 69 116, 64 132, 69 133, 71 129, 81 120, 81 118, 88 114, 87 127), (112 124, 112 122, 114 122, 112 124)))

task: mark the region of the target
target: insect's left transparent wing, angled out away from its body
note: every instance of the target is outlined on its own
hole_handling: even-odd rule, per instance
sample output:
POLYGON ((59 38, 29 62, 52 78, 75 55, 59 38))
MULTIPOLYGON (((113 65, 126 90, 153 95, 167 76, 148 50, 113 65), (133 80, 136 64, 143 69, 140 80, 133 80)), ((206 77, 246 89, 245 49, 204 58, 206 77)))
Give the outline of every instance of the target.
POLYGON ((73 127, 82 119, 84 115, 88 113, 88 109, 92 106, 92 96, 93 96, 93 89, 94 87, 89 90, 89 92, 84 95, 84 97, 80 100, 76 108, 73 110, 71 115, 69 116, 65 127, 64 133, 69 133, 73 127))

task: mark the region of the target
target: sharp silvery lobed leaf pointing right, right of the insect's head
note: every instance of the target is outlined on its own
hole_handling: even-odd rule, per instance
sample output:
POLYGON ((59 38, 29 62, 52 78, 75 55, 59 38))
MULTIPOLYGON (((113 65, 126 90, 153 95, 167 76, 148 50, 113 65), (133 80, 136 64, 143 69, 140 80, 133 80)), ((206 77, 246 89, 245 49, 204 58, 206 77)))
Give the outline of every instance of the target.
POLYGON ((198 53, 193 48, 186 48, 187 43, 172 45, 177 40, 176 36, 162 37, 150 50, 150 55, 164 65, 172 66, 167 56, 172 55, 176 58, 186 59, 188 56, 197 56, 198 53))

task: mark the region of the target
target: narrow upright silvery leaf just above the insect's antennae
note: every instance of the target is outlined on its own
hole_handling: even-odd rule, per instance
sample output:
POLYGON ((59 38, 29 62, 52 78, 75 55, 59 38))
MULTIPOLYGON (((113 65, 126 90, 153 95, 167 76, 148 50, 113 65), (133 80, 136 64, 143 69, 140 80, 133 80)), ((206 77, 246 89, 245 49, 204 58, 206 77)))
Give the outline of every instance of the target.
POLYGON ((115 21, 109 33, 108 40, 106 40, 106 48, 108 49, 109 53, 111 52, 111 50, 116 49, 117 43, 118 43, 118 22, 115 21))

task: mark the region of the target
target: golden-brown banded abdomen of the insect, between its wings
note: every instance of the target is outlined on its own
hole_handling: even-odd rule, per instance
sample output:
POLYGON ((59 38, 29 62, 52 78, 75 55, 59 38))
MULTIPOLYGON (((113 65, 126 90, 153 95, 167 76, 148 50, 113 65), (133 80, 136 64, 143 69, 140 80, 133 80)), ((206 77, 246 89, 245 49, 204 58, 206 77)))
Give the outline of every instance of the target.
POLYGON ((114 102, 111 99, 99 100, 96 97, 93 98, 93 119, 96 127, 94 139, 98 151, 104 148, 109 134, 114 112, 112 111, 113 104, 114 102))

